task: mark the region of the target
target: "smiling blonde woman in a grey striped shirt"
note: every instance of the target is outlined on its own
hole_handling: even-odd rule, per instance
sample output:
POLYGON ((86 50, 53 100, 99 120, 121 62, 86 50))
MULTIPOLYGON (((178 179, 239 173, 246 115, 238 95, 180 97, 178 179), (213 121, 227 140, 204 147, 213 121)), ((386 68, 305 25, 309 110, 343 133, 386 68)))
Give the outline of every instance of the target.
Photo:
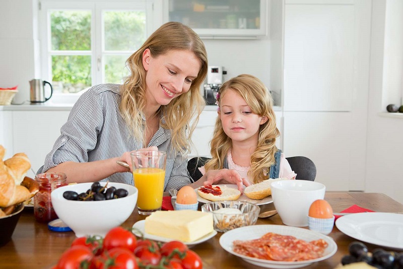
POLYGON ((126 65, 123 85, 97 85, 79 98, 43 171, 63 172, 69 183, 133 184, 131 169, 116 162, 131 167, 131 151, 158 149, 168 153, 165 190, 190 184, 186 153, 204 108, 199 88, 208 65, 203 42, 189 27, 169 22, 126 65))

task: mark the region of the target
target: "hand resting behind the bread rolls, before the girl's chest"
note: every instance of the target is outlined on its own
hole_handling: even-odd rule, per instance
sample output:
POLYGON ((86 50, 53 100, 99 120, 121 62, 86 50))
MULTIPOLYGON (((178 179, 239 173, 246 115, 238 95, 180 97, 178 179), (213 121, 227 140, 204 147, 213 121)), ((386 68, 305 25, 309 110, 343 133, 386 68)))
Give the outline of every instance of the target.
POLYGON ((238 190, 243 193, 243 185, 250 186, 248 180, 241 178, 236 170, 220 169, 208 171, 205 175, 207 177, 206 181, 203 182, 204 185, 215 185, 218 183, 224 184, 236 184, 238 190))

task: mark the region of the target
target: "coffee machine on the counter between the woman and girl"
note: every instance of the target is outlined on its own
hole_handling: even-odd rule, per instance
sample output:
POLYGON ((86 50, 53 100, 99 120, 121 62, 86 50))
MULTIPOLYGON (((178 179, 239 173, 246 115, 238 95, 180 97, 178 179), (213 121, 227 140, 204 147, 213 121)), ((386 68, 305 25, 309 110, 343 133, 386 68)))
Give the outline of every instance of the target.
POLYGON ((227 71, 223 71, 222 66, 209 66, 207 71, 207 83, 204 85, 206 104, 215 104, 216 94, 223 84, 223 75, 227 71))

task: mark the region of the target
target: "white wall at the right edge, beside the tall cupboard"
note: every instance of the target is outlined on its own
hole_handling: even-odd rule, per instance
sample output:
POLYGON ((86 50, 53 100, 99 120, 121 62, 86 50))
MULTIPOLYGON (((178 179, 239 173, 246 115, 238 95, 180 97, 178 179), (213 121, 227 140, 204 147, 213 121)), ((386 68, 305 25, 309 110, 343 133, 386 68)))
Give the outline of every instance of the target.
POLYGON ((403 2, 372 3, 365 190, 385 193, 403 203, 403 117, 379 114, 388 103, 399 104, 403 92, 403 2))

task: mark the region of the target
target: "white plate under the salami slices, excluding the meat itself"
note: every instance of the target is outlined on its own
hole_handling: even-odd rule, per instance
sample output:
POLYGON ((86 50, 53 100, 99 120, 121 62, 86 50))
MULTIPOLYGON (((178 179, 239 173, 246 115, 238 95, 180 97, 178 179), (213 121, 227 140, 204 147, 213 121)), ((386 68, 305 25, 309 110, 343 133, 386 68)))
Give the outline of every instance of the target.
POLYGON ((265 268, 299 268, 308 266, 309 264, 327 259, 337 251, 337 244, 330 237, 310 231, 308 229, 284 226, 284 225, 252 225, 230 230, 220 237, 220 245, 229 253, 241 257, 246 262, 265 268), (291 235, 305 241, 323 239, 328 246, 325 249, 323 256, 317 259, 302 260, 302 261, 275 261, 248 257, 233 251, 232 242, 234 240, 252 240, 262 237, 266 233, 276 233, 281 235, 291 235))

